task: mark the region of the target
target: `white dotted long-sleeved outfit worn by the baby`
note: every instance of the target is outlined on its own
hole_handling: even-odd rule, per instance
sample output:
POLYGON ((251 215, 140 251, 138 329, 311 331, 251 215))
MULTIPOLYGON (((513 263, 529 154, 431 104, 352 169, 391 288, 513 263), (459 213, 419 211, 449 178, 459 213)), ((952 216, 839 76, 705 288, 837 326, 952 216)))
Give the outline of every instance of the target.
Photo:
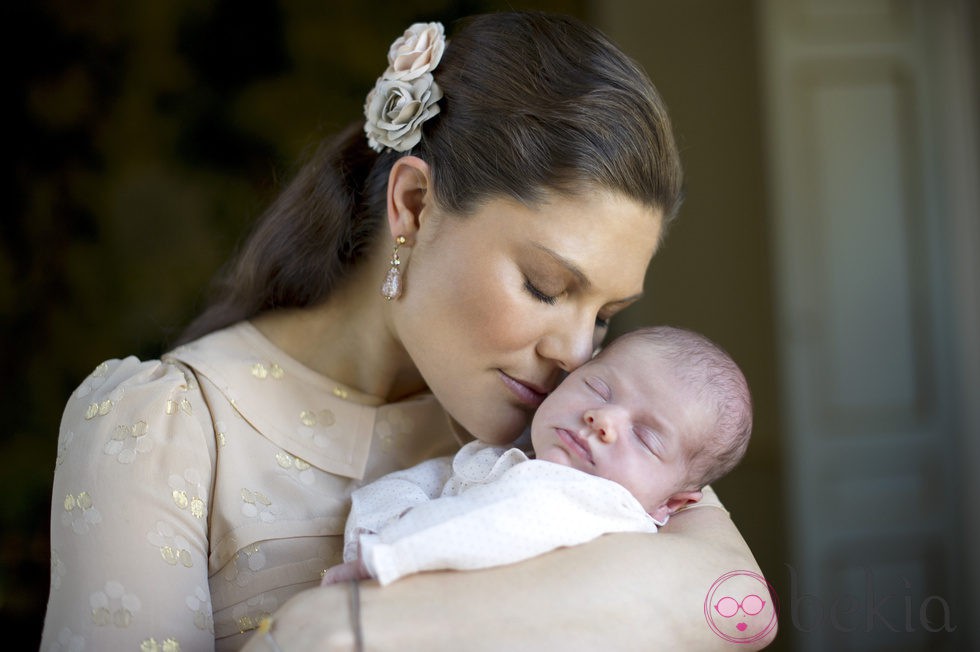
POLYGON ((471 442, 354 491, 344 560, 389 584, 426 570, 509 564, 611 532, 656 532, 621 485, 471 442))

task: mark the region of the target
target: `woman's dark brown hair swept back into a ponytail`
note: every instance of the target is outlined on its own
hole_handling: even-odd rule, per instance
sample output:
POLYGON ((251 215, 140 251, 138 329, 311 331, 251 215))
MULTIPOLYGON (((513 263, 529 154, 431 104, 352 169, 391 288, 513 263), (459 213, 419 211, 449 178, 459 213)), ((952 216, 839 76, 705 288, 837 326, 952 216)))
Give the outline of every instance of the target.
POLYGON ((379 237, 388 175, 405 154, 429 164, 436 203, 450 213, 496 197, 533 206, 548 193, 607 190, 662 211, 664 227, 676 215, 682 173, 667 109, 643 70, 596 29, 543 13, 472 17, 433 74, 443 98, 421 142, 376 154, 358 122, 322 143, 180 341, 325 300, 379 237))

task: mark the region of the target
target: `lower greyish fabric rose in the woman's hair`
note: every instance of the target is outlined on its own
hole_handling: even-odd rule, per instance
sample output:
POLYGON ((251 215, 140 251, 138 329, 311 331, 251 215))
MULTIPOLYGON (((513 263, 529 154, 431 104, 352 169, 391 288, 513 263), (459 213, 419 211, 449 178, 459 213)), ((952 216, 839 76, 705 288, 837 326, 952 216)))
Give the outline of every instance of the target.
POLYGON ((422 139, 422 123, 439 113, 442 90, 432 75, 417 79, 378 79, 364 103, 364 132, 376 152, 405 152, 422 139))

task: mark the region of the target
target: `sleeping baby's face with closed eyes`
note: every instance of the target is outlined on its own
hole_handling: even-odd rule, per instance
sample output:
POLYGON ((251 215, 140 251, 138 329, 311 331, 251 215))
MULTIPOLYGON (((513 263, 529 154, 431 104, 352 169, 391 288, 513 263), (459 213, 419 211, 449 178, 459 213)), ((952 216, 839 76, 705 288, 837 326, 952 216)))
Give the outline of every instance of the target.
POLYGON ((655 347, 627 341, 579 367, 548 396, 534 415, 531 441, 537 459, 618 482, 662 520, 689 502, 676 502, 693 444, 684 438, 701 418, 655 347))

